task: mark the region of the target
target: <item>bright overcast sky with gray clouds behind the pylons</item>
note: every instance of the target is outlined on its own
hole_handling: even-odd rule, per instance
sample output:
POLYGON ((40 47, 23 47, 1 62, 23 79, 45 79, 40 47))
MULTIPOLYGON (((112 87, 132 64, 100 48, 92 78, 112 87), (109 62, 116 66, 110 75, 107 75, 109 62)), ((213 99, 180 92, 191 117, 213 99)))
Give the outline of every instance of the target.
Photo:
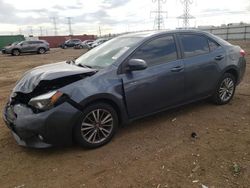
MULTIPOLYGON (((156 0, 157 1, 157 0, 156 0)), ((162 0, 165 2, 165 0, 162 0)), ((0 0, 0 34, 53 35, 52 17, 56 17, 58 34, 69 34, 67 17, 72 18, 74 34, 121 33, 154 28, 157 3, 152 0, 0 0)), ((180 0, 162 4, 164 28, 182 26, 180 0)), ((190 26, 250 23, 250 0, 194 0, 190 13, 196 17, 190 26)))

